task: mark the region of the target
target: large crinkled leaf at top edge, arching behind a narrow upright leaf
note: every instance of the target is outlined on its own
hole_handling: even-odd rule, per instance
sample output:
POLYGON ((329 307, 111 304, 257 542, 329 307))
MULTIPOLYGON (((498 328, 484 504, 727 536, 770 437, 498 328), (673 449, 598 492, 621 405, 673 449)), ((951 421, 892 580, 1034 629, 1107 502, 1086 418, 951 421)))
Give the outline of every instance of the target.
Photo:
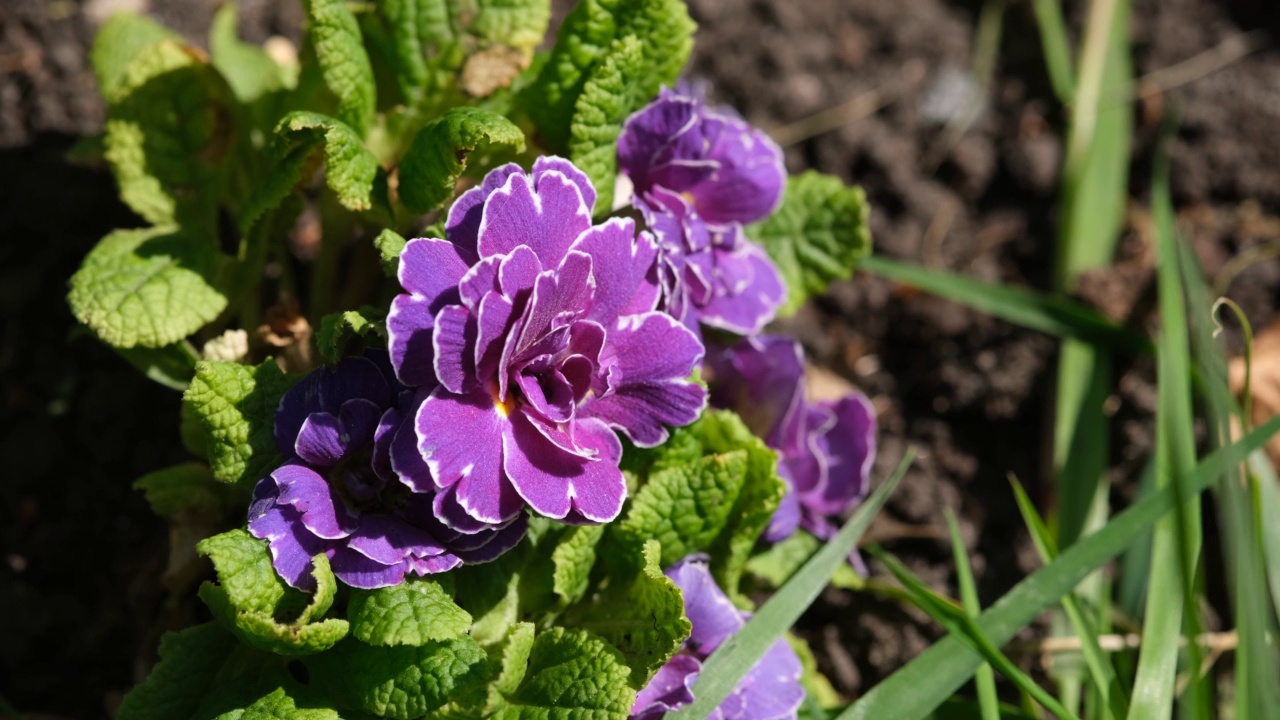
POLYGON ((579 96, 614 40, 630 35, 639 41, 644 58, 632 87, 637 97, 648 99, 663 85, 675 85, 689 60, 695 28, 680 0, 579 3, 564 18, 538 81, 525 91, 525 108, 541 140, 553 151, 568 147, 579 96))

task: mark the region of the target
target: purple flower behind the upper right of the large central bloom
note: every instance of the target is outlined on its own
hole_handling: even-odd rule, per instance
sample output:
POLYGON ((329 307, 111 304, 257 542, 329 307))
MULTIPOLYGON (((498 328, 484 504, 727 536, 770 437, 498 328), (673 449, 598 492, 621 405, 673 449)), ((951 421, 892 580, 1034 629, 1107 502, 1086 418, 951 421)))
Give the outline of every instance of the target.
POLYGON ((777 208, 782 150, 731 111, 663 88, 623 126, 618 165, 658 237, 660 306, 695 332, 760 332, 786 287, 742 224, 777 208))

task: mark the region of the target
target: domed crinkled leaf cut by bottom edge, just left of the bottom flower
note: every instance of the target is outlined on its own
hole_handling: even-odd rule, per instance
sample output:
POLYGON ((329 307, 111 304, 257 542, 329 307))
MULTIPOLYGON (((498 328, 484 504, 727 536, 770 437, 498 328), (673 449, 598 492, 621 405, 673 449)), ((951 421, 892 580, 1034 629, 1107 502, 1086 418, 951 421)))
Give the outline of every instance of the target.
POLYGON ((534 639, 529 670, 502 720, 625 720, 635 701, 622 655, 588 630, 552 628, 534 639))

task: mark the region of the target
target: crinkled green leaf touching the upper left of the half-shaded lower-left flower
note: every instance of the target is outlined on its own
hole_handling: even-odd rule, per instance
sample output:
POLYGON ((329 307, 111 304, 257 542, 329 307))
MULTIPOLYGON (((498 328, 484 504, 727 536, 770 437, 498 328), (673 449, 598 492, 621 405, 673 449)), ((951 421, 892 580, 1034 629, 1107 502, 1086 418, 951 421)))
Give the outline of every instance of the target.
POLYGON ((296 382, 271 360, 256 368, 216 361, 196 365, 183 406, 196 424, 191 439, 207 451, 214 478, 248 486, 280 464, 275 409, 296 382))

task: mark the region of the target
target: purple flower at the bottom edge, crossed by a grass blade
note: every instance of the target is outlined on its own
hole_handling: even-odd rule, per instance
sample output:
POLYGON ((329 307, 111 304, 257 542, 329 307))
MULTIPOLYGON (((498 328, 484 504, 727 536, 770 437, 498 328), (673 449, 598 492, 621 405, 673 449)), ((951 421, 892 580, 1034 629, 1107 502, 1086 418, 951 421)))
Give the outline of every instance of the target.
MULTIPOLYGON (((692 624, 685 647, 658 669, 631 706, 631 720, 658 720, 694 702, 692 687, 703 661, 746 624, 749 615, 730 602, 707 566, 705 555, 690 555, 667 570, 685 596, 692 624)), ((782 720, 795 717, 804 701, 800 659, 785 639, 765 651, 755 667, 708 717, 713 720, 782 720)))

